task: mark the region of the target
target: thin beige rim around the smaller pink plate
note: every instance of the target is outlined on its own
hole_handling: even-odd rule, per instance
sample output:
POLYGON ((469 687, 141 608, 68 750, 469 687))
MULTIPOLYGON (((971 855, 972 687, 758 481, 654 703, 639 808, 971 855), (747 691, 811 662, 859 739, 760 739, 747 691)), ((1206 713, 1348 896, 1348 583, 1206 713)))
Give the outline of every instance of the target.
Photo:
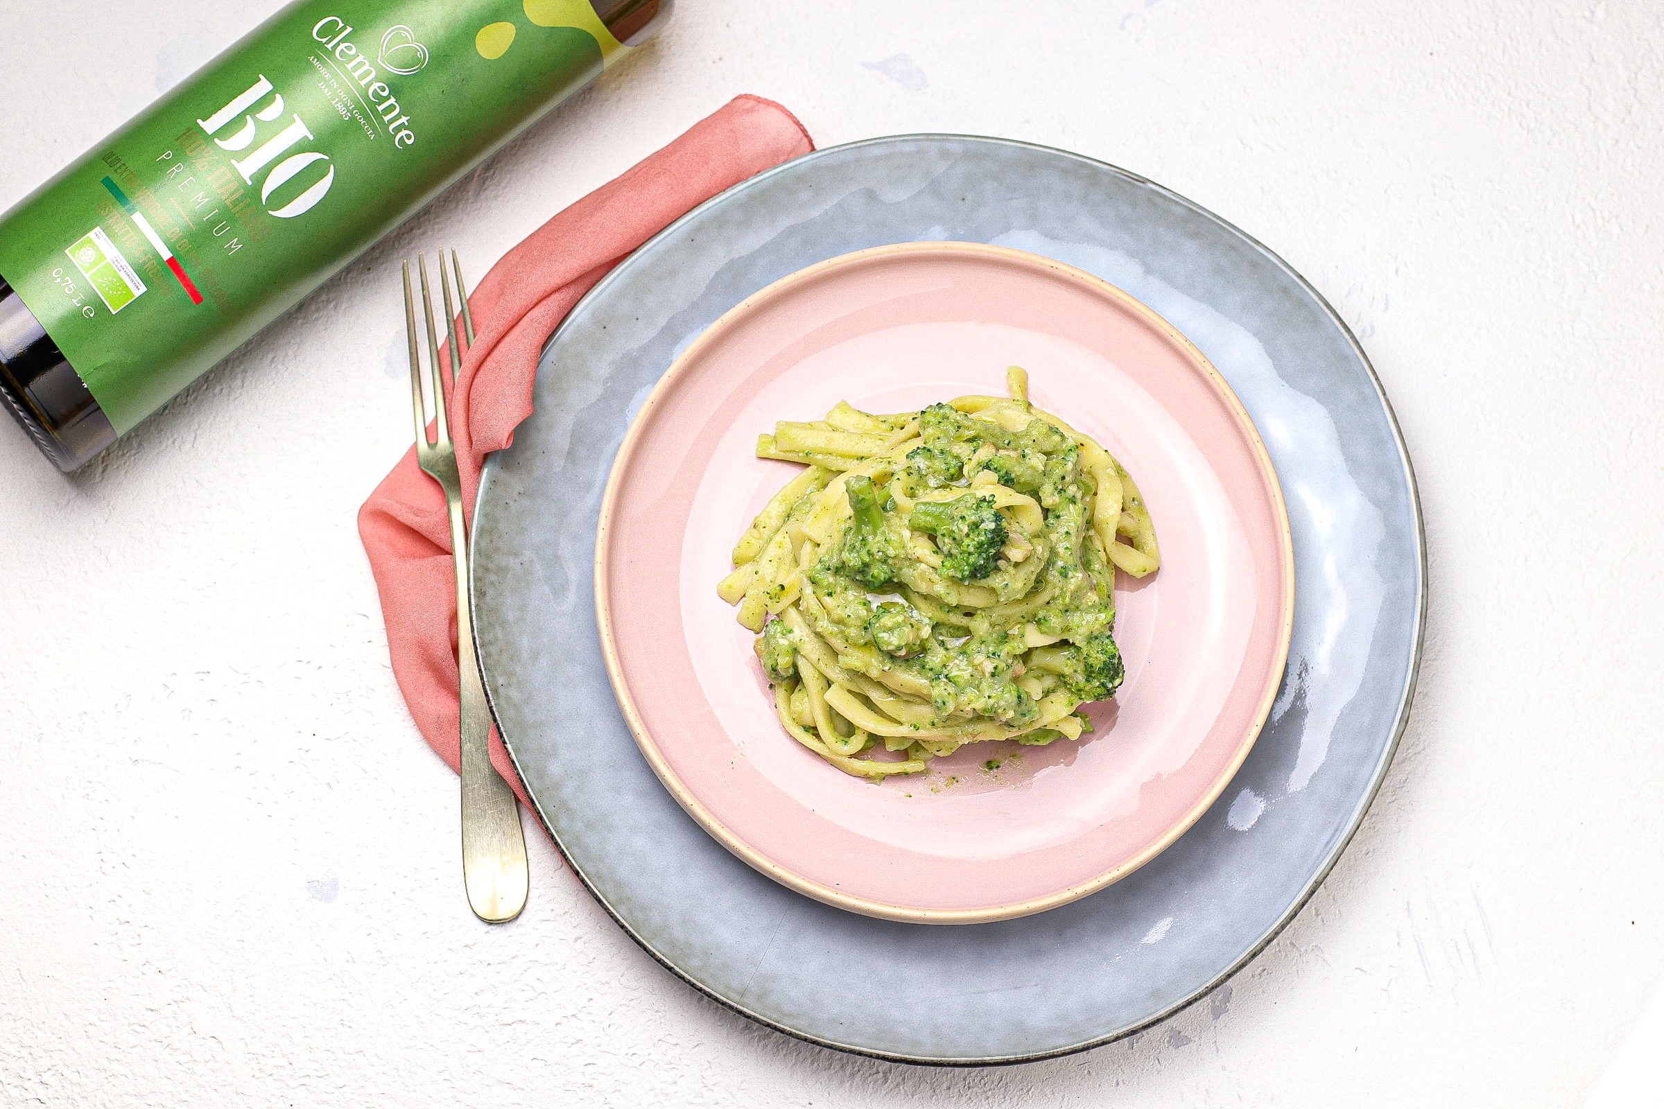
POLYGON ((737 858, 745 861, 754 870, 767 875, 769 878, 779 881, 780 885, 795 890, 815 901, 824 901, 825 904, 837 906, 840 909, 849 909, 852 913, 860 913, 864 916, 877 916, 880 919, 915 923, 915 924, 985 924, 992 921, 1013 919, 1018 916, 1028 916, 1032 913, 1043 913, 1045 909, 1057 908, 1060 904, 1068 904, 1070 901, 1078 901, 1080 898, 1097 893, 1105 886, 1110 886, 1127 875, 1153 860, 1156 855, 1165 851, 1173 845, 1178 836, 1185 835, 1191 825, 1195 825, 1205 811, 1220 798, 1225 786, 1230 785, 1231 778, 1241 768, 1243 760, 1248 758, 1248 752, 1253 750, 1255 740, 1260 738, 1260 732, 1265 727, 1266 718, 1271 713, 1271 705, 1276 702, 1276 692, 1283 683, 1283 670, 1288 665, 1288 648, 1295 630, 1295 540, 1288 524, 1288 505, 1283 500, 1283 485, 1276 477, 1276 467, 1271 464, 1271 456, 1265 449, 1265 441, 1260 437, 1260 429, 1255 427, 1253 419, 1248 416, 1248 409, 1243 407, 1241 399, 1238 399, 1236 391, 1231 389, 1230 382, 1215 369, 1213 362, 1196 349, 1190 339, 1183 336, 1173 324, 1161 318, 1153 308, 1135 298, 1132 293, 1110 284, 1097 274, 1090 274, 1085 269, 1078 269, 1067 263, 1060 263, 1055 258, 1047 258, 1043 254, 1033 254, 1030 251, 1013 249, 1010 246, 993 246, 988 243, 962 243, 962 241, 917 241, 917 243, 890 243, 885 246, 869 246, 865 249, 850 251, 847 254, 837 254, 835 258, 827 258, 812 266, 805 266, 795 273, 785 274, 784 278, 764 286, 762 289, 752 293, 744 301, 727 309, 706 328, 699 338, 687 344, 687 347, 676 356, 664 376, 654 384, 647 399, 642 402, 636 417, 631 421, 629 431, 624 432, 624 441, 619 444, 619 452, 612 459, 612 467, 607 472, 606 492, 601 499, 601 517, 596 522, 596 555, 594 555, 594 579, 596 579, 596 630, 601 635, 601 653, 607 665, 607 680, 612 683, 612 695, 617 698, 619 708, 624 713, 624 720, 629 725, 631 735, 636 737, 636 745, 641 748, 642 757, 646 757, 647 765, 652 766, 654 775, 669 790, 671 796, 692 816, 699 825, 711 833, 724 848, 732 851, 737 858), (1271 500, 1276 507, 1278 517, 1278 539, 1283 545, 1283 580, 1286 589, 1283 594, 1283 620, 1278 630, 1278 648, 1276 662, 1271 668, 1273 678, 1266 683, 1266 690, 1261 693, 1260 707, 1255 712, 1253 722, 1243 733, 1243 738, 1236 745, 1236 752, 1230 763, 1208 786, 1206 793, 1178 820, 1171 828, 1166 830, 1155 843, 1146 846, 1143 851, 1133 858, 1113 866, 1102 875, 1093 876, 1088 881, 1077 883, 1050 893, 1043 898, 1030 898, 1027 901, 1015 901, 1010 904, 995 904, 988 908, 973 909, 922 909, 905 904, 890 904, 885 901, 872 901, 869 898, 857 898, 849 893, 834 890, 824 883, 814 881, 799 875, 797 871, 780 866, 777 861, 745 843, 742 838, 734 835, 716 815, 707 810, 699 798, 696 798, 676 771, 671 770, 662 752, 659 752, 657 743, 654 743, 652 735, 642 723, 641 713, 636 710, 636 702, 629 693, 629 687, 624 682, 622 665, 619 662, 617 645, 612 640, 612 628, 609 622, 611 599, 607 595, 607 550, 611 530, 609 524, 612 519, 612 510, 616 499, 619 495, 619 476, 629 466, 636 454, 636 449, 642 439, 641 429, 647 422, 647 414, 662 401, 664 394, 672 384, 676 384, 692 359, 719 336, 726 334, 729 329, 737 326, 740 319, 750 314, 760 303, 772 299, 784 293, 785 289, 809 281, 812 278, 827 273, 829 269, 857 264, 872 258, 885 258, 890 254, 910 254, 910 253, 960 253, 960 254, 980 254, 993 256, 1007 261, 1020 261, 1023 264, 1042 264, 1057 274, 1078 281, 1080 284, 1093 289, 1100 296, 1107 296, 1112 301, 1132 309, 1133 313, 1143 316, 1153 323, 1165 336, 1173 343, 1180 344, 1183 351, 1206 372, 1208 381, 1226 401, 1231 412, 1236 416, 1236 422, 1248 436, 1248 442, 1253 447, 1255 457, 1260 461, 1260 471, 1266 484, 1271 489, 1271 500))

